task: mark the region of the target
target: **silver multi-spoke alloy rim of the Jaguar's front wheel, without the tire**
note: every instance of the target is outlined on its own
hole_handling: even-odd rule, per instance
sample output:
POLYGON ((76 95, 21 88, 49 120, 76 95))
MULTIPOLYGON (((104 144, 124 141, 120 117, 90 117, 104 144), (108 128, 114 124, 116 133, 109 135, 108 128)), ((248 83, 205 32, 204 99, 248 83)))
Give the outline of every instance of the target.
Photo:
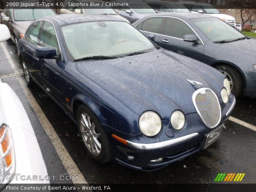
POLYGON ((82 113, 79 122, 84 144, 94 156, 99 156, 101 152, 100 134, 92 118, 87 113, 82 113))

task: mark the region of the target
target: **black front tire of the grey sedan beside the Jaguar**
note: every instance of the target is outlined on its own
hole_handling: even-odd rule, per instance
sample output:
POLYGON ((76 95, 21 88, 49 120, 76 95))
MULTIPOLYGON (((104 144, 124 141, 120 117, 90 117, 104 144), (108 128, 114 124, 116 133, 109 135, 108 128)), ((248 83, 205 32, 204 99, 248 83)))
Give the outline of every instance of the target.
POLYGON ((232 94, 234 94, 236 98, 242 95, 244 89, 244 81, 240 72, 236 68, 228 65, 219 65, 215 68, 222 72, 230 81, 232 94))

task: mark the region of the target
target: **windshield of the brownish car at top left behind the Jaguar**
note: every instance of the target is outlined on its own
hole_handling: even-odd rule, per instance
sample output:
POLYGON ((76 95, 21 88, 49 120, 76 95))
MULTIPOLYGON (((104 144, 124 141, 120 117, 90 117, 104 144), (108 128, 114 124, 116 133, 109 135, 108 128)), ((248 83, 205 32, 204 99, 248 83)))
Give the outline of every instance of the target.
POLYGON ((51 9, 15 9, 15 21, 33 21, 44 16, 52 16, 56 13, 51 9))

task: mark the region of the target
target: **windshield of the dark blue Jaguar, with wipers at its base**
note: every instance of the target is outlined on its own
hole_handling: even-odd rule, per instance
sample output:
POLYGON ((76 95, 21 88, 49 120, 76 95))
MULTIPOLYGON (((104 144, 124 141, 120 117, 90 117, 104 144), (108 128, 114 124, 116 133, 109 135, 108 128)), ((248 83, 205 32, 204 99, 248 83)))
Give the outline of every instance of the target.
POLYGON ((72 60, 127 56, 157 50, 148 38, 126 22, 70 24, 62 27, 62 33, 72 60))

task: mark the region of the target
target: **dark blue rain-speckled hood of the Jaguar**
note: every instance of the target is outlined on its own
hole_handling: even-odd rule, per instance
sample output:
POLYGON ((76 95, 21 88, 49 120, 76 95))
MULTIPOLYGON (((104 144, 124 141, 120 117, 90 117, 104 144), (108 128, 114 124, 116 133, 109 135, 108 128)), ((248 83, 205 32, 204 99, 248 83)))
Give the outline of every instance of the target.
MULTIPOLYGON (((163 49, 118 59, 77 63, 78 71, 140 115, 154 110, 169 120, 173 110, 196 112, 192 94, 211 88, 220 97, 224 76, 205 64, 163 49), (192 86, 188 80, 202 83, 192 86)), ((84 82, 82 82, 84 83, 84 82)))

